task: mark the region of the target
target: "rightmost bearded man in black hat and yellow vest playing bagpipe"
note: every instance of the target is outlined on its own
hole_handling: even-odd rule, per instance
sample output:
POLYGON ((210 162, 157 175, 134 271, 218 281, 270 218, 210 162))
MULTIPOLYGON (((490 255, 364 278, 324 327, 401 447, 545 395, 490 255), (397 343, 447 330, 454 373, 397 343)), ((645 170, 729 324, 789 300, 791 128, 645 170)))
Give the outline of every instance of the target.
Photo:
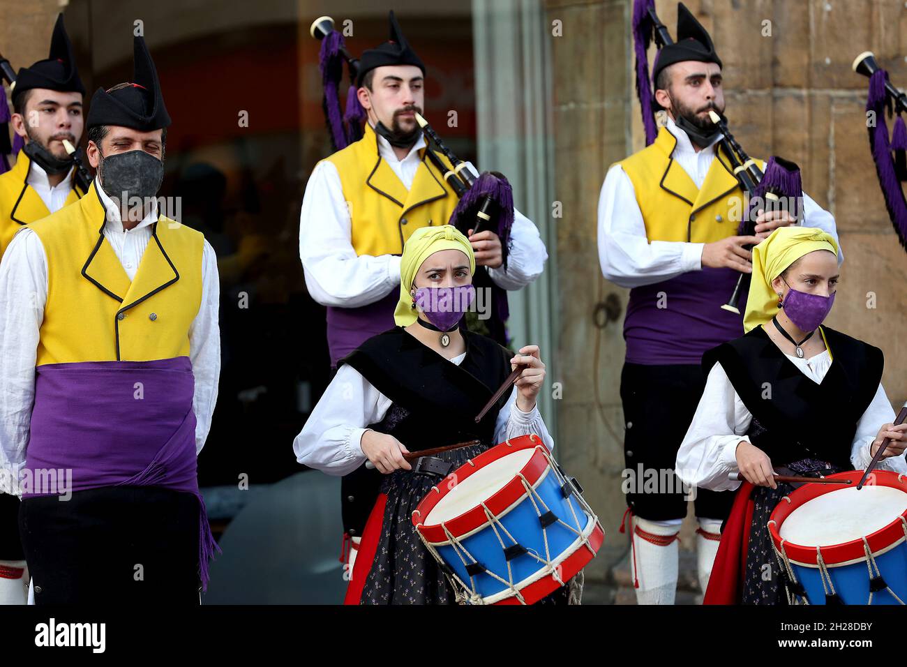
MULTIPOLYGON (((598 238, 604 277, 630 288, 620 397, 637 602, 670 604, 688 500, 695 503, 703 591, 733 501, 730 494, 685 489, 674 474, 678 447, 705 387, 702 355, 743 334, 739 313, 722 304, 740 272, 752 271, 745 246, 796 221, 785 210, 762 211, 755 236, 738 232, 741 191, 709 116, 725 109, 721 59, 706 29, 679 3, 677 41, 658 52, 653 96, 647 43, 639 30, 652 6, 647 0, 634 6, 642 64, 637 87, 650 145, 611 166, 600 192, 598 238), (667 116, 661 128, 650 102, 667 116), (647 482, 652 477, 657 485, 647 482)), ((797 190, 794 196, 802 194, 797 190)), ((803 211, 805 225, 836 238, 832 216, 805 194, 803 211)))

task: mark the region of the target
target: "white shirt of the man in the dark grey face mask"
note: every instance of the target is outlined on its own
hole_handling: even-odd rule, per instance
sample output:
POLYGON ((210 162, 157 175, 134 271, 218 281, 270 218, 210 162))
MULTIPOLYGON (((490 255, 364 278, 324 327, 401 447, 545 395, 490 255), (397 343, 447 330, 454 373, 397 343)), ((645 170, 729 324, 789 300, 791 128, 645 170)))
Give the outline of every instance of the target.
MULTIPOLYGON (((132 230, 124 230, 120 211, 98 188, 108 207, 103 235, 130 280, 151 239, 156 212, 132 230)), ((206 240, 201 256, 201 305, 190 327, 190 360, 195 377, 192 409, 195 448, 201 451, 218 397, 220 284, 217 257, 206 240)), ((15 493, 9 481, 24 464, 34 405, 34 364, 44 305, 47 302, 47 256, 38 235, 28 227, 16 232, 0 262, 0 491, 15 493)))

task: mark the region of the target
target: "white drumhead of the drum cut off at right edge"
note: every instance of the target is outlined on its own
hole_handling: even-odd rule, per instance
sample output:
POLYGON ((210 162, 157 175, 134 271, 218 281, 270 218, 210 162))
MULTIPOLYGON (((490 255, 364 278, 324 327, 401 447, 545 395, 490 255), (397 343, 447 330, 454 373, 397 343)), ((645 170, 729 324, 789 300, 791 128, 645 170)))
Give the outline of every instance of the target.
MULTIPOLYGON (((787 501, 782 500, 782 503, 787 501)), ((889 525, 907 509, 907 494, 891 486, 848 486, 797 507, 779 529, 782 539, 803 546, 858 540, 889 525)))

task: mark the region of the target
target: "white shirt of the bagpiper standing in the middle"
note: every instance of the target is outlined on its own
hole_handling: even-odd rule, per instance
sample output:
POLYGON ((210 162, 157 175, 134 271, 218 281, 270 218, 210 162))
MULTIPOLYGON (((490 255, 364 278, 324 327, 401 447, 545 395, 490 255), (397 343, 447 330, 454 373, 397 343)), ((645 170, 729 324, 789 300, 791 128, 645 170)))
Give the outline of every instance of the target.
MULTIPOLYGON (((406 190, 413 186, 421 162, 420 137, 403 160, 378 135, 378 153, 394 171, 406 190)), ((475 172, 472 165, 470 169, 475 172)), ((299 258, 312 299, 322 306, 357 308, 383 299, 400 285, 399 255, 356 255, 352 243, 352 221, 340 174, 333 162, 319 162, 306 185, 299 214, 299 258)), ((548 252, 535 225, 520 211, 513 211, 512 245, 503 266, 488 274, 502 289, 520 289, 541 275, 548 252)))

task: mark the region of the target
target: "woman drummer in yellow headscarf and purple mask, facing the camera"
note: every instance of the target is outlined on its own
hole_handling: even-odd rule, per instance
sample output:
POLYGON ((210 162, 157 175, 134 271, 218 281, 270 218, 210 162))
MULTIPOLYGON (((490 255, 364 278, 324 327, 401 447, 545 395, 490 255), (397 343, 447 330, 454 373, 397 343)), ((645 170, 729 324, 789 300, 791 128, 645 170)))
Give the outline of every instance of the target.
MULTIPOLYGON (((329 475, 361 471, 357 493, 377 496, 354 547, 346 603, 454 603, 415 533, 416 505, 449 470, 508 438, 535 433, 553 446, 536 407, 545 378, 539 348, 528 345, 514 356, 460 326, 466 309, 474 305, 481 319, 491 305, 473 289, 474 272, 472 245, 454 227, 415 231, 400 263, 397 326, 340 360, 293 444, 299 463, 329 475), (476 424, 516 365, 525 368, 512 392, 476 424), (480 444, 424 456, 412 466, 404 458, 411 450, 473 439, 480 444), (366 470, 366 460, 376 470, 366 470), (414 467, 434 476, 414 474, 414 467)), ((568 593, 561 587, 542 602, 565 602, 568 593)))

